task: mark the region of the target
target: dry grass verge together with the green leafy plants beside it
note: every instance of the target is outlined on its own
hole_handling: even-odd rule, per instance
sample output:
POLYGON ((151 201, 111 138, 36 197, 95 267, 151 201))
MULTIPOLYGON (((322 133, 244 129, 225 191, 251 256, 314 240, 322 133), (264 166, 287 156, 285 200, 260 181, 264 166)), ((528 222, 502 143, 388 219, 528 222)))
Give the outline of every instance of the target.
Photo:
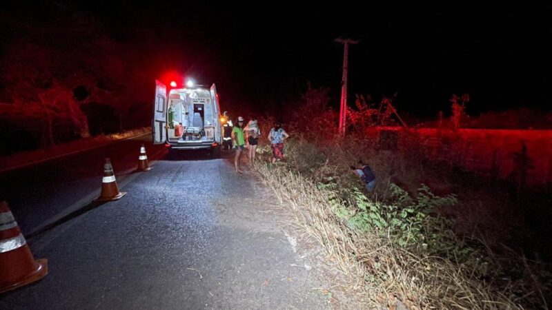
MULTIPOLYGON (((542 293, 522 280, 500 278, 495 262, 457 238, 448 220, 430 216, 433 211, 417 209, 395 223, 405 205, 439 207, 454 204, 454 196, 435 196, 422 187, 411 197, 386 184, 376 194, 363 194, 344 172, 346 152, 334 151, 299 138, 286 145, 286 163, 256 167, 297 226, 355 279, 353 289, 364 292, 372 306, 397 298, 409 309, 545 309, 542 293)), ((268 156, 268 148, 261 153, 268 156)))

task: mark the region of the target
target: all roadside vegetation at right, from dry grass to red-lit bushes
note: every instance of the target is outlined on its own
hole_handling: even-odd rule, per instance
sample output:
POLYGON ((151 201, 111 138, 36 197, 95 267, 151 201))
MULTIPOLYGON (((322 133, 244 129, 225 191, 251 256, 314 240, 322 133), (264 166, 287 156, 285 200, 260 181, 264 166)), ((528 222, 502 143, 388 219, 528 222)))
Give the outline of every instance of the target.
MULTIPOLYGON (((507 198, 484 188, 469 192, 469 176, 432 162, 415 145, 406 153, 386 149, 358 134, 362 127, 339 138, 327 102, 325 90, 309 88, 286 127, 293 138, 285 161, 269 164, 264 145, 255 168, 297 227, 351 278, 348 293, 391 309, 397 301, 408 309, 549 309, 547 265, 493 236, 522 234, 521 226, 474 224, 480 214, 471 213, 474 205, 504 209, 511 206, 507 198), (359 160, 375 171, 374 192, 348 168, 359 160)), ((515 216, 515 210, 495 216, 505 212, 515 216)))

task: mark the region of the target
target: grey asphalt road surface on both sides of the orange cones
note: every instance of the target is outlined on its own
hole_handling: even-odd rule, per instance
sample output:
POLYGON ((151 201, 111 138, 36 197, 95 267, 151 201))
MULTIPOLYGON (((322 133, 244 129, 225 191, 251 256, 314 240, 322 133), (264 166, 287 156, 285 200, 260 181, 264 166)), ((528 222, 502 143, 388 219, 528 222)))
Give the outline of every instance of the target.
MULTIPOLYGON (((126 143, 127 147, 112 145, 118 151, 109 152, 115 155, 112 158, 132 160, 130 171, 137 162, 136 152, 130 150, 141 141, 126 143), (124 149, 130 154, 122 154, 124 149)), ((278 228, 280 211, 266 189, 250 175, 235 174, 228 158, 208 159, 201 154, 168 158, 159 152, 163 157, 150 172, 128 173, 124 185, 117 177, 121 191, 128 192, 121 200, 85 203, 81 211, 35 232, 28 241, 35 258, 48 259, 49 274, 0 296, 0 308, 328 308, 317 289, 321 287, 315 280, 317 269, 299 257, 293 240, 278 228)), ((88 179, 91 184, 101 182, 103 156, 92 159, 96 155, 76 155, 67 165, 60 159, 63 168, 50 163, 50 172, 34 167, 45 183, 35 183, 41 190, 33 194, 11 193, 10 198, 17 198, 17 208, 14 203, 10 207, 18 222, 33 223, 23 224, 27 229, 39 227, 36 223, 41 220, 33 220, 35 211, 42 219, 52 218, 56 212, 51 208, 58 214, 64 209, 52 207, 52 202, 82 203, 90 192, 72 191, 88 179), (83 158, 90 162, 75 164, 83 158), (75 173, 80 177, 70 177, 75 173), (58 175, 70 178, 69 185, 59 189, 53 181, 58 175), (42 216, 43 212, 51 214, 42 216)), ((117 161, 124 162, 115 160, 115 172, 119 164, 126 170, 117 161)), ((24 180, 21 173, 11 177, 24 180)))

